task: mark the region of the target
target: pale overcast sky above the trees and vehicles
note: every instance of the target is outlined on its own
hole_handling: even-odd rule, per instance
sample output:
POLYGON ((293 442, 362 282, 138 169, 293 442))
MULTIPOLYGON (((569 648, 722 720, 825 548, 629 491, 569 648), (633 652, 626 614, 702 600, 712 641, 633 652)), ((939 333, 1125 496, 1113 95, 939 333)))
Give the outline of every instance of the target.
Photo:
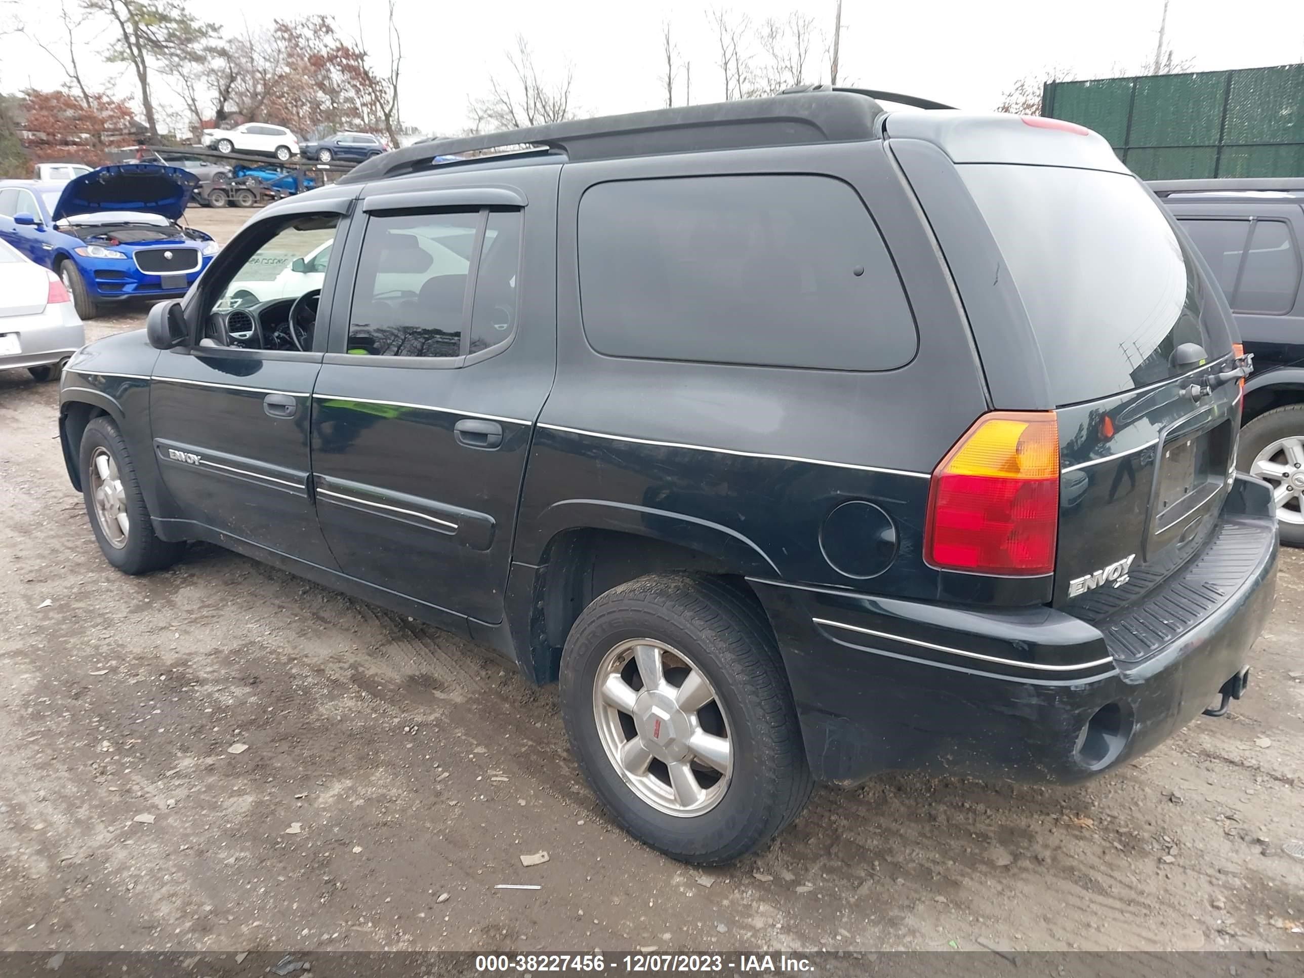
MULTIPOLYGON (((692 102, 719 100, 722 77, 707 23, 713 5, 747 10, 754 22, 799 9, 832 35, 835 0, 398 0, 403 120, 428 133, 462 129, 467 98, 484 93, 492 72, 506 72, 503 51, 518 31, 529 39, 544 74, 572 65, 572 102, 584 115, 656 108, 662 104, 660 25, 666 20, 681 60, 691 65, 692 102)), ((245 21, 259 26, 274 16, 308 12, 334 14, 346 33, 360 30, 359 0, 194 7, 232 33, 243 31, 245 21)), ((364 18, 363 39, 379 53, 385 25, 376 17, 383 17, 382 4, 369 0, 361 7, 370 17, 364 18)), ((1162 7, 1163 0, 844 0, 840 81, 986 111, 1016 78, 1048 65, 1090 78, 1110 74, 1115 65, 1136 69, 1148 63, 1162 7)), ((30 27, 52 38, 59 35, 52 17, 57 9, 57 0, 18 4, 30 27)), ((1176 57, 1194 59, 1196 70, 1304 61, 1304 0, 1171 0, 1168 38, 1176 57)), ((130 95, 132 81, 121 65, 90 56, 102 42, 87 35, 86 44, 93 65, 87 73, 130 95)), ((827 59, 819 60, 827 81, 827 59)), ((61 81, 57 65, 21 35, 0 38, 0 90, 55 87, 61 81)), ((679 102, 682 76, 677 89, 679 102)), ((159 95, 166 96, 162 85, 159 95)))

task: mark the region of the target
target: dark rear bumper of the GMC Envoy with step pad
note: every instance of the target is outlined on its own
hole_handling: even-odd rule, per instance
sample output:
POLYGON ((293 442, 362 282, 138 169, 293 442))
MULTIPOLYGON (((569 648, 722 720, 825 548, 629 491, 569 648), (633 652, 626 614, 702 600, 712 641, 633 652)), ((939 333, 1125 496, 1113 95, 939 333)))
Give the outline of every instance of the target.
POLYGON ((1267 486, 1237 477, 1224 518, 1240 531, 1239 554, 1249 540, 1256 559, 1209 614, 1140 662, 1115 661, 1101 631, 1051 608, 981 612, 752 580, 815 777, 923 769, 1072 782, 1161 743, 1247 669, 1271 612, 1267 486))

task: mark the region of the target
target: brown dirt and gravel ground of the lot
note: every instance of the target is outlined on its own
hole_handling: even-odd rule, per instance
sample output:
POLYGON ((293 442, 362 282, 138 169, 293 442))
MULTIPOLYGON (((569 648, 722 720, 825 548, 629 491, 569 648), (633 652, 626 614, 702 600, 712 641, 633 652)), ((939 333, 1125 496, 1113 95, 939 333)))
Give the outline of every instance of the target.
POLYGON ((113 571, 56 412, 0 372, 0 949, 1304 949, 1299 552, 1227 719, 1085 786, 819 789, 702 872, 475 645, 211 546, 113 571))

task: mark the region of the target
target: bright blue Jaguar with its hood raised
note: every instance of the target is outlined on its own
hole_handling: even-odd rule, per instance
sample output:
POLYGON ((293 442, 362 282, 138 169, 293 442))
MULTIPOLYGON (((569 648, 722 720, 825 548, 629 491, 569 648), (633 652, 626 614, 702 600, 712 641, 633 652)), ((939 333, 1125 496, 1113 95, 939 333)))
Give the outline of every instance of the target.
POLYGON ((196 176, 158 163, 67 183, 0 180, 0 239, 53 270, 83 319, 124 299, 185 295, 218 243, 177 222, 196 176))

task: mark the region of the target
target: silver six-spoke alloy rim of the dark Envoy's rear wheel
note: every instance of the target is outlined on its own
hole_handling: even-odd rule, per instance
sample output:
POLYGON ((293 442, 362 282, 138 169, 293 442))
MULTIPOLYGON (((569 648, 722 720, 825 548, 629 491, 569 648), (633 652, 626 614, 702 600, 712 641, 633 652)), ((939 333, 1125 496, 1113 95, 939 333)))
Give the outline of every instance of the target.
POLYGON ((612 648, 593 679, 593 716, 608 760, 653 808, 694 816, 724 798, 734 760, 729 721, 682 652, 652 639, 612 648))

